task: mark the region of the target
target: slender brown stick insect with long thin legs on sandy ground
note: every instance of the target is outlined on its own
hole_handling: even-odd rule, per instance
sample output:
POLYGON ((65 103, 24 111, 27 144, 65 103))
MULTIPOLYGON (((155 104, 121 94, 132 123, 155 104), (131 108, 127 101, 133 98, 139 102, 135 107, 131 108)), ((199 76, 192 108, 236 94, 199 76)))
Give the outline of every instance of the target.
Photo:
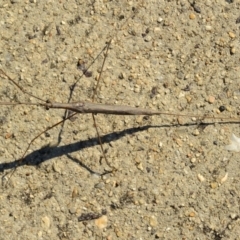
MULTIPOLYGON (((111 39, 112 40, 112 39, 111 39)), ((196 114, 181 114, 181 113, 172 113, 172 112, 164 112, 164 111, 159 111, 159 110, 154 110, 154 109, 147 109, 147 108, 137 108, 137 107, 131 107, 131 106, 125 106, 125 105, 109 105, 109 104, 99 104, 99 103, 94 103, 94 99, 95 99, 95 95, 99 86, 99 82, 101 79, 101 74, 103 72, 103 68, 105 65, 105 60, 107 58, 107 53, 108 50, 110 48, 110 44, 111 44, 111 40, 106 44, 106 47, 103 49, 102 52, 105 51, 105 57, 103 60, 103 64, 101 67, 101 71, 100 71, 100 75, 98 77, 98 81, 97 81, 97 85, 94 89, 94 94, 92 97, 93 102, 83 102, 83 101, 79 101, 79 102, 75 102, 75 103, 59 103, 59 102, 54 102, 51 100, 43 100, 29 92, 27 92, 26 90, 24 90, 15 80, 13 80, 7 73, 5 73, 5 71, 3 71, 2 69, 0 69, 0 74, 7 78, 10 82, 12 82, 17 88, 19 88, 24 94, 29 95, 30 97, 33 97, 34 99, 37 99, 39 102, 37 103, 27 103, 27 102, 2 102, 0 103, 1 105, 34 105, 34 106, 41 106, 44 107, 46 109, 52 109, 52 108, 56 108, 56 109, 64 109, 66 110, 65 113, 65 117, 62 121, 54 124, 53 126, 49 127, 48 129, 42 131, 41 133, 39 133, 36 137, 34 137, 30 143, 28 144, 26 150, 24 151, 23 155, 20 157, 19 160, 16 161, 16 166, 21 165, 22 161, 24 160, 27 151, 29 150, 30 146, 32 145, 32 143, 38 138, 40 137, 42 134, 46 133, 49 129, 52 129, 54 127, 56 127, 57 125, 60 125, 62 123, 64 123, 67 119, 70 119, 72 117, 74 117, 77 113, 80 114, 92 114, 93 117, 93 121, 94 121, 94 125, 95 128, 97 130, 97 135, 98 135, 98 139, 100 142, 100 146, 102 149, 102 153, 103 156, 107 162, 107 164, 111 167, 111 164, 108 162, 104 150, 103 150, 103 146, 101 143, 101 138, 100 138, 100 134, 98 132, 97 129, 97 124, 96 124, 96 120, 95 120, 95 114, 112 114, 112 115, 146 115, 146 116, 153 116, 153 115, 169 115, 169 116, 177 116, 177 117, 187 117, 187 118, 195 118, 197 120, 200 121, 204 121, 205 119, 211 119, 214 122, 218 121, 218 122, 239 122, 240 119, 239 118, 228 118, 228 117, 216 117, 216 116, 211 116, 211 115, 196 115, 196 114), (74 112, 73 114, 67 114, 67 112, 74 112)), ((88 68, 87 69, 83 69, 83 73, 87 74, 88 68)), ((72 91, 74 90, 75 86, 77 85, 77 82, 73 85, 72 87, 72 91)), ((12 174, 14 173, 14 171, 16 170, 16 167, 13 169, 13 171, 11 172, 10 177, 12 176, 12 174)), ((113 169, 115 170, 115 169, 113 169)), ((108 171, 111 172, 111 171, 108 171)), ((105 173, 108 173, 105 172, 105 173)), ((104 173, 104 174, 105 174, 104 173)), ((9 178, 10 178, 9 177, 9 178)))

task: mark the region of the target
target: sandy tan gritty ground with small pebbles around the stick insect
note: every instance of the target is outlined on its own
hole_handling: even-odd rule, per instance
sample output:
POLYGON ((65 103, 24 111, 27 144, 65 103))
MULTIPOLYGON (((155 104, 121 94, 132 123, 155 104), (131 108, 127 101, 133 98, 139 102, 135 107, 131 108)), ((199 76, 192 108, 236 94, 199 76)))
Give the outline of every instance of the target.
MULTIPOLYGON (((97 102, 236 117, 240 2, 228 2, 2 0, 0 68, 34 95, 67 102, 81 74, 78 59, 91 64, 114 37, 97 102), (221 105, 227 110, 219 113, 221 105)), ((91 101, 102 61, 80 79, 71 101, 91 101)), ((1 76, 0 101, 15 100, 35 102, 1 76)), ((1 177, 63 115, 1 106, 1 177)), ((188 126, 191 117, 164 115, 97 116, 97 123, 117 171, 98 177, 87 169, 109 169, 99 163, 91 115, 66 122, 60 145, 40 151, 57 142, 61 127, 54 128, 0 189, 0 239, 240 239, 240 155, 224 149, 231 133, 240 136, 239 124, 188 126), (103 209, 105 228, 78 222, 103 209)))

